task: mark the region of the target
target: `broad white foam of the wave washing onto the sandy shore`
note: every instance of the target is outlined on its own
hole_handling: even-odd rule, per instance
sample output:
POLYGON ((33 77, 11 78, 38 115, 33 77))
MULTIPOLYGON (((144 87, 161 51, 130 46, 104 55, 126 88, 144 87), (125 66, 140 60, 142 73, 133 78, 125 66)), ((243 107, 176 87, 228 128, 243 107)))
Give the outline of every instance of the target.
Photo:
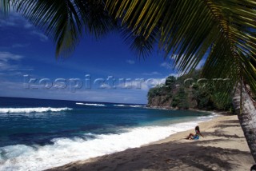
MULTIPOLYGON (((194 128, 197 122, 167 126, 124 129, 120 134, 92 134, 94 139, 55 138, 53 145, 10 145, 0 148, 0 170, 43 170, 105 154, 140 147, 180 131, 194 128)), ((86 136, 86 135, 85 135, 86 136)))

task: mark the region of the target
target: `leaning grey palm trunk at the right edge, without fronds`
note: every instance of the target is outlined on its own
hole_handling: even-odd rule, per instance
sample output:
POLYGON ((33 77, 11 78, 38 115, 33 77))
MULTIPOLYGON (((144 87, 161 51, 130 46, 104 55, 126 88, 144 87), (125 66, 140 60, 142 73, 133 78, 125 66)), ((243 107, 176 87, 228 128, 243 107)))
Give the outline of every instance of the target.
POLYGON ((233 105, 235 112, 238 114, 238 119, 246 137, 247 144, 250 148, 250 153, 256 162, 256 109, 255 101, 250 97, 249 87, 246 89, 242 83, 235 88, 233 105), (240 101, 242 97, 242 101, 240 101), (241 108, 242 107, 242 108, 241 108))

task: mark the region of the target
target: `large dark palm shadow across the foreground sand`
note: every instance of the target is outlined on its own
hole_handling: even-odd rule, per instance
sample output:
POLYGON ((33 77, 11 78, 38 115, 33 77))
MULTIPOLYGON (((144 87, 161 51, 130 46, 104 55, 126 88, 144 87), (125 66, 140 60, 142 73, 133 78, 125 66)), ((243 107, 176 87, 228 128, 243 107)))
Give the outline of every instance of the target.
POLYGON ((74 162, 50 170, 236 170, 239 158, 250 161, 251 155, 238 149, 202 146, 213 141, 167 142, 96 157, 90 162, 74 162))

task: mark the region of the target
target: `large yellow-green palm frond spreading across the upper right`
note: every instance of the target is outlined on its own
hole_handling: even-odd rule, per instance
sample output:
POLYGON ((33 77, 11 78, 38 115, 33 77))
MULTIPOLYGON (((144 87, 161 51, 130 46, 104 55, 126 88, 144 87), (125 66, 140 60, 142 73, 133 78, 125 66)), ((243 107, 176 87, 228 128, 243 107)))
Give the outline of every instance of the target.
POLYGON ((174 57, 179 71, 194 70, 209 53, 203 77, 240 76, 256 92, 256 2, 251 0, 106 0, 106 9, 145 40, 174 57))

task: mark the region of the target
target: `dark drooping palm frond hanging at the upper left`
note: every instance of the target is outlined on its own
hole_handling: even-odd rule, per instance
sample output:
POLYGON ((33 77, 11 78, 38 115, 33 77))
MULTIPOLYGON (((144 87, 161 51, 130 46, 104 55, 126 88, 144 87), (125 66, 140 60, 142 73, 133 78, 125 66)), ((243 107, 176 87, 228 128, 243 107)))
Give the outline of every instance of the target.
POLYGON ((13 1, 14 9, 22 13, 56 43, 56 56, 68 55, 82 36, 82 16, 74 2, 65 0, 13 1))

